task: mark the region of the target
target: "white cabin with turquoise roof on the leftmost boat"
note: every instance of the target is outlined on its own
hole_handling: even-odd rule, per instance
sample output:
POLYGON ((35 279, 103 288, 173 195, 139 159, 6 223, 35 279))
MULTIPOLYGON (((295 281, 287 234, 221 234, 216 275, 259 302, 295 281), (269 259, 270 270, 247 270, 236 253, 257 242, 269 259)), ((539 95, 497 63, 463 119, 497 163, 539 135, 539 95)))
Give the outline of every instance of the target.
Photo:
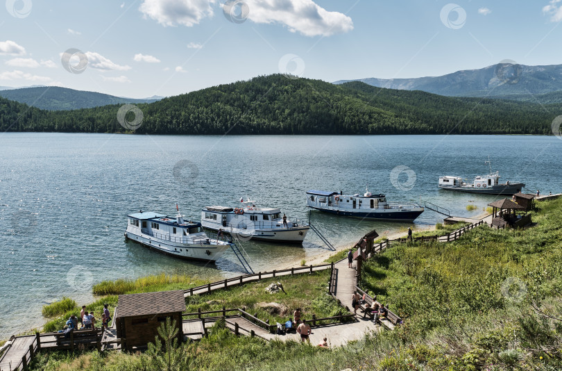
POLYGON ((201 223, 185 221, 181 215, 168 217, 166 215, 142 212, 127 215, 127 230, 137 236, 142 234, 169 240, 171 242, 187 243, 188 238, 193 235, 201 235, 203 228, 201 223))

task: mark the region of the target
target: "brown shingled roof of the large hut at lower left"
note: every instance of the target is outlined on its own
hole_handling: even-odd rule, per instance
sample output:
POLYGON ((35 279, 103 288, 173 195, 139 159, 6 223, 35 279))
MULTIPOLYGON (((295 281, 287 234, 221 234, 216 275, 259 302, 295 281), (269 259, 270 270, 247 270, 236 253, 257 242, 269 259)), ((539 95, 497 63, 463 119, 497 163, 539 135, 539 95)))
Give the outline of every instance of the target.
POLYGON ((182 290, 144 292, 119 295, 117 306, 119 317, 155 315, 185 311, 185 299, 182 290))

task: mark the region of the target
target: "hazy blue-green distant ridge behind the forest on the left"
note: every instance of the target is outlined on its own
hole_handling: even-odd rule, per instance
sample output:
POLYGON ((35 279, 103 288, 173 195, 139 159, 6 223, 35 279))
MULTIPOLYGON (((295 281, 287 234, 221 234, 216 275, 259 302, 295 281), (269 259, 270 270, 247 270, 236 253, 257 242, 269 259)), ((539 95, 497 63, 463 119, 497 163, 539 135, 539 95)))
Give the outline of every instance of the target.
MULTIPOLYGON (((4 87, 6 88, 6 87, 4 87)), ((162 97, 133 99, 114 97, 99 92, 86 92, 58 86, 35 86, 31 88, 6 88, 0 90, 0 97, 41 108, 44 110, 77 110, 94 108, 110 104, 143 104, 159 101, 162 97)))

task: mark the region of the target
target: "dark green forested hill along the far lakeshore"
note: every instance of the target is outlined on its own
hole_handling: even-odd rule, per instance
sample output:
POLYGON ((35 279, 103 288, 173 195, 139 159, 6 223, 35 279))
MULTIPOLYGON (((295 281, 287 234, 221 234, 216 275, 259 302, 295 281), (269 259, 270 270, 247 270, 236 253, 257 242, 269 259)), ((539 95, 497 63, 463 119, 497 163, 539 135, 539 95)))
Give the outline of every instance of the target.
MULTIPOLYGON (((0 99, 0 129, 122 132, 120 107, 46 111, 0 99)), ((333 85, 280 74, 138 107, 144 120, 136 133, 151 134, 550 134, 552 120, 562 114, 558 105, 442 97, 359 82, 333 85)))

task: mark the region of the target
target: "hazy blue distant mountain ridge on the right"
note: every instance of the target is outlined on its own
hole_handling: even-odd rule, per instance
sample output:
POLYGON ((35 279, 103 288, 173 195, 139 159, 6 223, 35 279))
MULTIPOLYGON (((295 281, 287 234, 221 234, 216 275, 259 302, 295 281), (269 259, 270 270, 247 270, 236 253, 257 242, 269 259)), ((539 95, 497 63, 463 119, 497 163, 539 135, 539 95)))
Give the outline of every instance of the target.
MULTIPOLYGON (((361 81, 378 88, 422 90, 449 97, 490 97, 533 101, 530 97, 562 90, 562 65, 527 66, 498 63, 481 69, 466 69, 443 76, 414 79, 340 80, 336 84, 361 81)), ((557 101, 562 101, 559 94, 557 101)), ((552 99, 552 96, 549 97, 552 99)), ((542 103, 542 102, 541 102, 542 103)))

